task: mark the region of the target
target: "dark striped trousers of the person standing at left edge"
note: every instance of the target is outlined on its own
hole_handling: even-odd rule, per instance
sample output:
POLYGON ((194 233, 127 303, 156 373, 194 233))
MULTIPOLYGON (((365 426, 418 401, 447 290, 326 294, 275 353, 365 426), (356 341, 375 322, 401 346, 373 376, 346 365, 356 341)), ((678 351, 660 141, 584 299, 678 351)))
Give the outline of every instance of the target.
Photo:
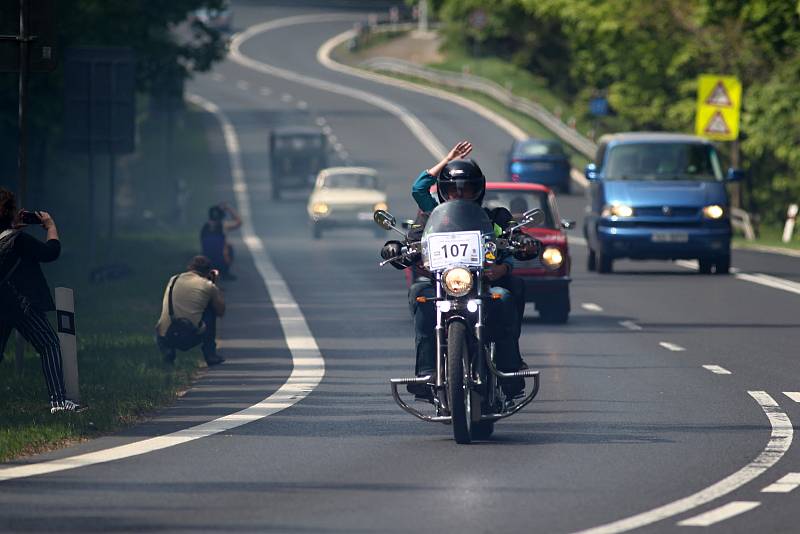
POLYGON ((42 371, 47 382, 50 402, 64 400, 64 371, 61 366, 61 344, 44 312, 30 308, 10 319, 0 320, 0 359, 5 351, 11 331, 17 329, 33 345, 42 360, 42 371))

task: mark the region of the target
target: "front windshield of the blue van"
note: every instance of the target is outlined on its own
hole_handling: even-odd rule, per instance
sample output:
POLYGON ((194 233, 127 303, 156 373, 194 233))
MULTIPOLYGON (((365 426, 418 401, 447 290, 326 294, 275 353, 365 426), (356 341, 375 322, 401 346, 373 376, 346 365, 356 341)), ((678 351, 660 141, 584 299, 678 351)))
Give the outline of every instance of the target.
POLYGON ((700 143, 621 144, 609 151, 605 167, 607 180, 722 180, 717 152, 700 143))

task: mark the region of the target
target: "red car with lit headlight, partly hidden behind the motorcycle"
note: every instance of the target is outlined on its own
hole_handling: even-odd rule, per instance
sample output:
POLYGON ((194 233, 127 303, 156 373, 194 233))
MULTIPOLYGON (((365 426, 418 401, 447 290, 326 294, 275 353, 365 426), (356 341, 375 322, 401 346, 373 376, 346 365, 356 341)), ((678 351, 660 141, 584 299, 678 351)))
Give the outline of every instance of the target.
POLYGON ((541 208, 545 222, 524 232, 542 242, 536 259, 514 262, 514 275, 525 280, 525 301, 533 302, 541 318, 549 323, 565 323, 569 318, 571 259, 565 229, 575 223, 558 215, 556 197, 549 187, 532 183, 487 182, 485 208, 502 206, 519 217, 523 212, 541 208))

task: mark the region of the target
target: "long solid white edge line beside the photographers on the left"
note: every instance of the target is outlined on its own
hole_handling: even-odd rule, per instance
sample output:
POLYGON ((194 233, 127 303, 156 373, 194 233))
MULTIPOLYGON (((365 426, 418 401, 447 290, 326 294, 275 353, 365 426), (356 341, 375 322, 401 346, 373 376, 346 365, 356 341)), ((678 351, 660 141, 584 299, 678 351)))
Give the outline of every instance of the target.
POLYGON ((244 242, 250 250, 256 268, 267 287, 267 298, 272 299, 275 311, 278 314, 283 335, 286 338, 286 345, 292 355, 292 373, 286 382, 272 395, 236 413, 164 436, 157 436, 110 449, 29 465, 0 467, 0 481, 112 462, 226 432, 247 423, 264 419, 297 404, 308 396, 325 376, 325 360, 322 358, 317 342, 308 328, 303 312, 292 297, 283 277, 273 265, 264 243, 255 233, 236 131, 227 116, 212 102, 197 95, 187 95, 186 98, 206 111, 213 113, 222 126, 225 145, 230 155, 230 170, 236 193, 236 203, 243 222, 242 234, 244 242))

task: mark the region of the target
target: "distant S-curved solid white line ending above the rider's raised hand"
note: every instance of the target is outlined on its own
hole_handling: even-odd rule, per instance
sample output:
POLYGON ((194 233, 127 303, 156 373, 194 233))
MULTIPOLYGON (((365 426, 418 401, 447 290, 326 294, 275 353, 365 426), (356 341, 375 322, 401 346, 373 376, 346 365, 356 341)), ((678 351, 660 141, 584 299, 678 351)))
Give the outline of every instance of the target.
MULTIPOLYGON (((388 111, 389 113, 400 119, 403 122, 403 124, 406 125, 406 127, 411 131, 411 133, 414 134, 417 137, 417 139, 419 139, 422 145, 434 156, 434 158, 436 158, 437 160, 441 159, 446 154, 446 149, 444 145, 433 135, 430 129, 428 129, 428 127, 425 126, 425 124, 423 124, 422 121, 420 121, 414 114, 412 114, 406 108, 399 106, 398 104, 395 104, 394 102, 391 102, 380 96, 368 93, 367 91, 361 91, 359 89, 354 89, 352 87, 347 87, 345 85, 340 85, 328 82, 326 80, 312 78, 310 76, 304 76, 302 74, 298 74, 290 70, 281 69, 278 67, 274 67, 272 65, 267 65, 266 63, 262 63, 260 61, 245 56, 244 54, 241 53, 240 50, 242 43, 244 43, 247 39, 255 35, 258 35, 259 33, 263 33, 265 31, 272 30, 275 28, 283 28, 286 26, 307 24, 312 22, 334 22, 334 21, 352 22, 353 20, 354 19, 352 15, 320 14, 320 15, 300 15, 296 17, 287 17, 283 19, 271 20, 268 22, 264 22, 262 24, 256 24, 254 26, 247 28, 242 33, 234 35, 233 39, 231 40, 229 57, 231 58, 231 60, 236 61, 240 65, 249 67, 259 72, 263 72, 271 76, 277 76, 279 78, 294 81, 297 83, 302 83, 304 85, 308 85, 316 89, 321 89, 323 91, 328 91, 331 93, 344 95, 350 98, 355 98, 357 100, 361 100, 362 102, 367 102, 368 104, 371 104, 375 107, 388 111)), ((318 58, 320 57, 319 51, 317 53, 317 57, 318 58)))

